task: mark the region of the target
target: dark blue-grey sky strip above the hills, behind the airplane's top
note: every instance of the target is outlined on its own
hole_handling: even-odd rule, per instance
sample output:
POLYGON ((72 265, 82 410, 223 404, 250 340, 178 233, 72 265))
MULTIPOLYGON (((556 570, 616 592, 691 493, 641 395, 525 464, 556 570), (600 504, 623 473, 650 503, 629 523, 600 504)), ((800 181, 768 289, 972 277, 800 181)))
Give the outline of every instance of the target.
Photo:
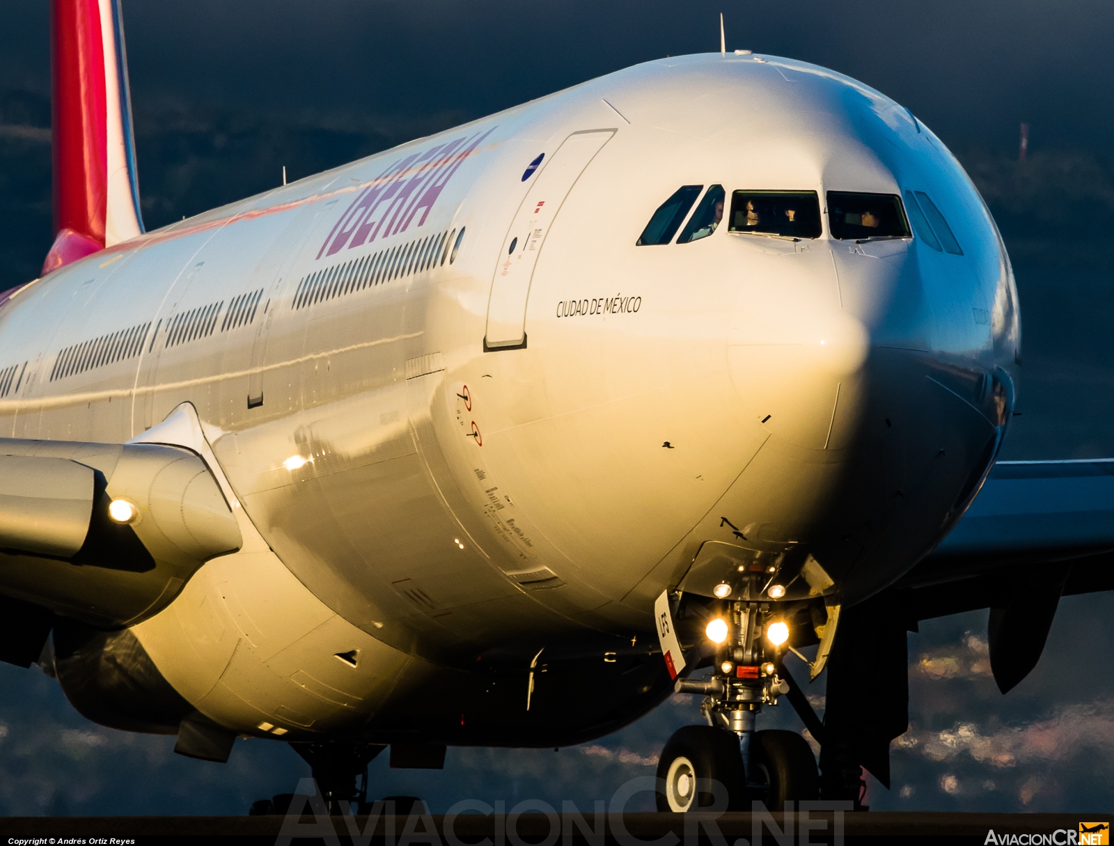
MULTIPOLYGON (((421 124, 478 117, 666 54, 818 62, 910 107, 948 144, 1111 146, 1104 0, 520 3, 126 0, 137 100, 180 98, 421 124)), ((0 77, 43 87, 47 3, 0 2, 0 77)))

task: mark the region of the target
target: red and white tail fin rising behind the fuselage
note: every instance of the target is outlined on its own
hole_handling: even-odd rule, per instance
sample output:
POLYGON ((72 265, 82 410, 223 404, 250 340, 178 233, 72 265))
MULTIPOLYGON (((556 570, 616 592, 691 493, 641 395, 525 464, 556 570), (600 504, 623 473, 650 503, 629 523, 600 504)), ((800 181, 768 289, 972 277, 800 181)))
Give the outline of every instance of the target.
POLYGON ((139 235, 120 0, 50 0, 55 243, 46 275, 139 235))

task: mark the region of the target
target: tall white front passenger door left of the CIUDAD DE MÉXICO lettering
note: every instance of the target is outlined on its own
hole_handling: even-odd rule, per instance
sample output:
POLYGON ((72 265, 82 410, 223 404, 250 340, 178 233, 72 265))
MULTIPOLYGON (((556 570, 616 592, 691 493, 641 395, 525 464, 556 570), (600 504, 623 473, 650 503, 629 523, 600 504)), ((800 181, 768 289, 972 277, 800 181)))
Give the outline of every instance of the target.
POLYGON ((534 176, 504 240, 491 279, 486 350, 525 346, 526 300, 546 235, 568 192, 613 135, 614 129, 573 133, 534 176))

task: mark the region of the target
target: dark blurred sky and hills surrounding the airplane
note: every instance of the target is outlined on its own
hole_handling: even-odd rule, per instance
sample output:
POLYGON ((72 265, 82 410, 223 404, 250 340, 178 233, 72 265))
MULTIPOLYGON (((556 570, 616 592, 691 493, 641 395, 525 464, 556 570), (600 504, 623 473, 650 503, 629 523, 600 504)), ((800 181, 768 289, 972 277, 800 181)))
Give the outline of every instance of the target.
MULTIPOLYGON (((717 50, 721 11, 729 50, 824 65, 908 106, 983 192, 1024 321, 1023 415, 1003 457, 1114 456, 1114 6, 1103 0, 126 0, 146 225, 272 187, 283 165, 296 179, 628 65, 717 50)), ((38 274, 52 234, 47 3, 0 0, 0 20, 3 290, 38 274)), ((873 807, 1110 807, 1111 610, 1108 594, 1064 600, 1040 664, 1008 697, 988 674, 985 612, 910 634, 912 726, 873 807)), ((375 791, 434 810, 466 797, 588 809, 652 775, 673 728, 698 721, 695 699, 675 699, 559 753, 453 749, 443 772, 377 760, 375 791)), ((788 706, 768 714, 765 727, 800 728, 788 706)), ((307 770, 258 740, 227 765, 172 748, 88 723, 39 671, 0 665, 0 814, 240 814, 307 770)))

